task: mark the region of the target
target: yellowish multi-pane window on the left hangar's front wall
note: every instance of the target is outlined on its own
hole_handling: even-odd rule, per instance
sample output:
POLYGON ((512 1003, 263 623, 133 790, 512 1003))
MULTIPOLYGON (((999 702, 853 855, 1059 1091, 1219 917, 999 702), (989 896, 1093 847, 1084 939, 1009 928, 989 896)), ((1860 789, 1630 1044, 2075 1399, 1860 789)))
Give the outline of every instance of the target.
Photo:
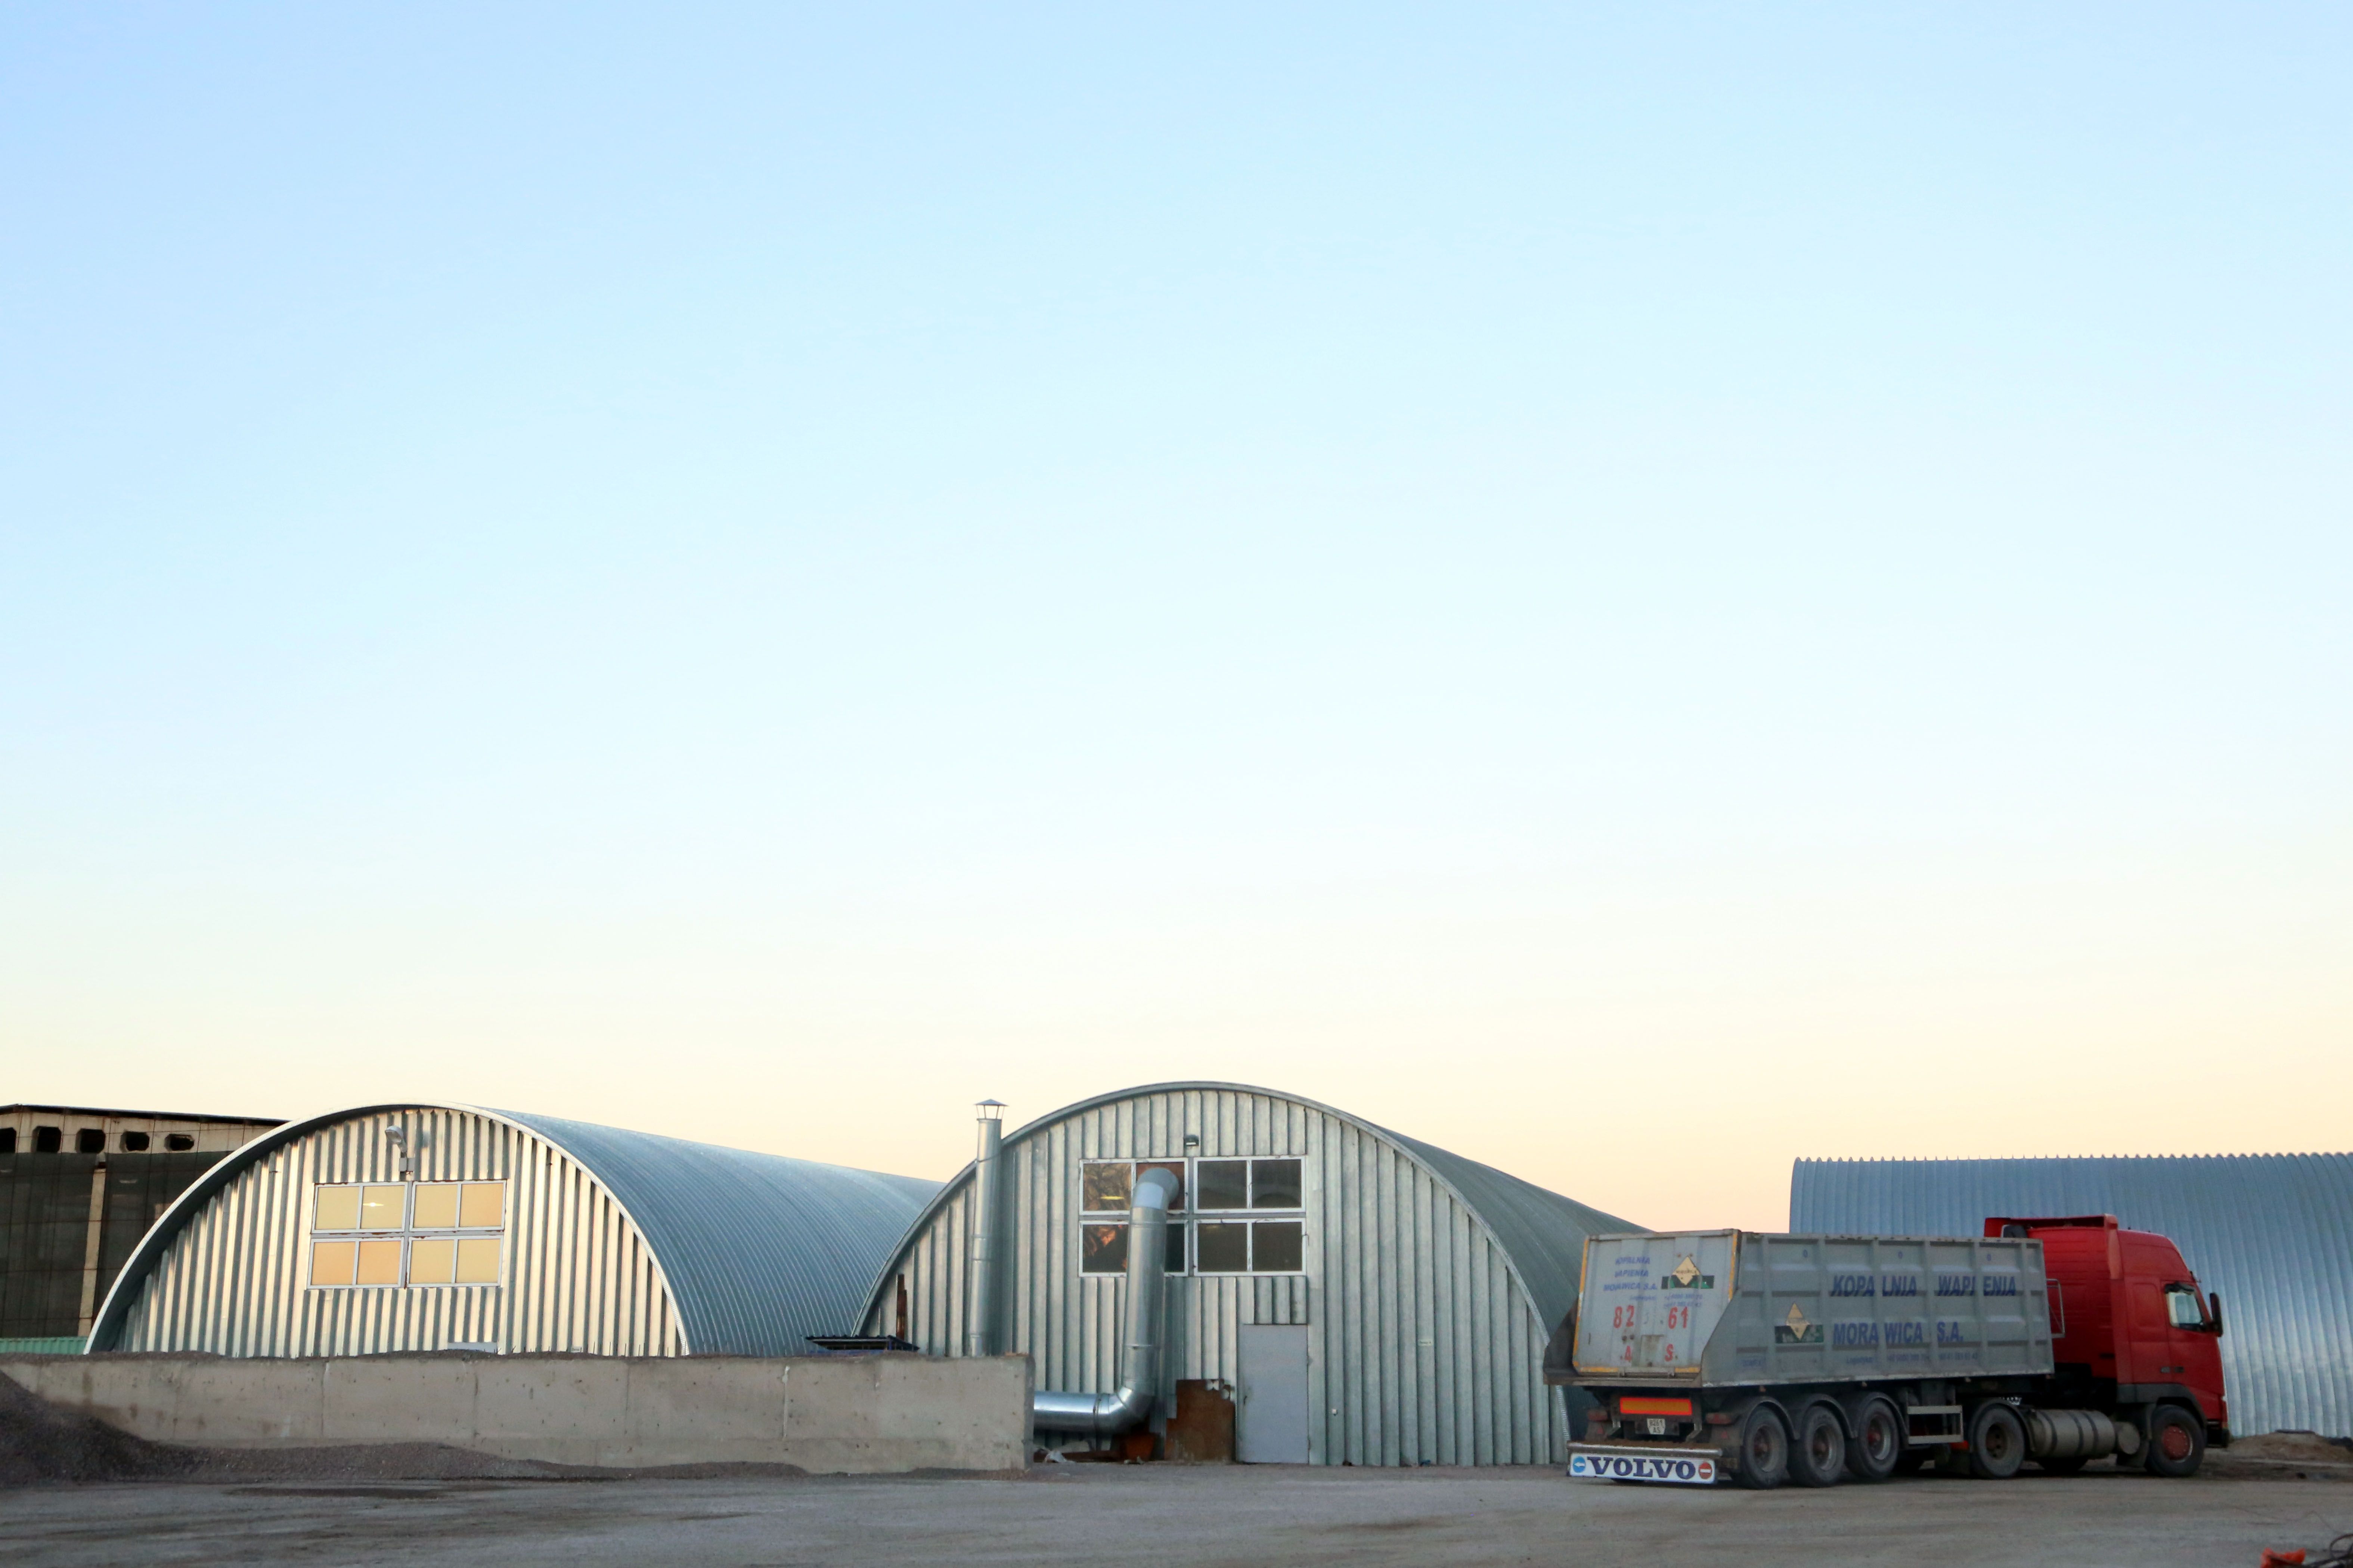
POLYGON ((322 1185, 311 1199, 311 1284, 494 1286, 504 1229, 506 1182, 322 1185))

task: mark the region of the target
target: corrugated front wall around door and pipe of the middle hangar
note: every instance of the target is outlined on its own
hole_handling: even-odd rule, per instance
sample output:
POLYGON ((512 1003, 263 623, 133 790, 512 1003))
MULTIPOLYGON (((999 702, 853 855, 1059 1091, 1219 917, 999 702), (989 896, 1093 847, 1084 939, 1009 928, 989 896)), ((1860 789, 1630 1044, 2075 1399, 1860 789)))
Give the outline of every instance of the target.
MULTIPOLYGON (((1240 1086, 1139 1088, 1031 1124, 1005 1140, 1000 1345, 1035 1359, 1040 1389, 1118 1382, 1125 1279, 1078 1272, 1080 1161, 1297 1154, 1304 1274, 1172 1279, 1162 1410, 1179 1378, 1235 1378, 1242 1324, 1304 1321, 1311 1462, 1553 1462, 1567 1406, 1541 1375, 1551 1321, 1497 1232, 1417 1147, 1329 1107, 1240 1086), (1186 1150, 1186 1133, 1200 1147, 1186 1150)), ((894 1326, 904 1274, 908 1335, 929 1354, 960 1354, 969 1192, 967 1171, 882 1272, 871 1333, 894 1326)), ((1569 1232, 1539 1241, 1525 1229, 1527 1246, 1584 1241, 1569 1232)))

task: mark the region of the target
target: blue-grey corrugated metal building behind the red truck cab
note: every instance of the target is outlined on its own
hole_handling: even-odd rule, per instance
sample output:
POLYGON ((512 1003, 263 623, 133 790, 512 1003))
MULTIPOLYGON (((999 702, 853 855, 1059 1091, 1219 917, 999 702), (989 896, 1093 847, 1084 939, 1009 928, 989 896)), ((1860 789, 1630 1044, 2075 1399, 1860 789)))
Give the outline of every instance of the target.
POLYGON ((2353 1154, 1800 1159, 1791 1229, 1974 1237, 1986 1215, 2113 1213, 2221 1291, 2235 1432, 2353 1436, 2353 1154))

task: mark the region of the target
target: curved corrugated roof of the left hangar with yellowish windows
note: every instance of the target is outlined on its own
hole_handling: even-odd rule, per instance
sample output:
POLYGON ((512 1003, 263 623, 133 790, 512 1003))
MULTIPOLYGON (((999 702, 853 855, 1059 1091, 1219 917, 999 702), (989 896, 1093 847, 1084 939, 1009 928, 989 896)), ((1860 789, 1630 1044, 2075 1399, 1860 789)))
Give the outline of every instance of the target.
POLYGON ((275 1126, 205 1171, 122 1265, 89 1345, 122 1326, 172 1237, 240 1171, 351 1117, 449 1110, 506 1121, 579 1161, 645 1237, 685 1326, 689 1354, 798 1356, 805 1335, 856 1333, 866 1281, 889 1260, 939 1182, 633 1133, 593 1121, 452 1100, 358 1105, 275 1126))

